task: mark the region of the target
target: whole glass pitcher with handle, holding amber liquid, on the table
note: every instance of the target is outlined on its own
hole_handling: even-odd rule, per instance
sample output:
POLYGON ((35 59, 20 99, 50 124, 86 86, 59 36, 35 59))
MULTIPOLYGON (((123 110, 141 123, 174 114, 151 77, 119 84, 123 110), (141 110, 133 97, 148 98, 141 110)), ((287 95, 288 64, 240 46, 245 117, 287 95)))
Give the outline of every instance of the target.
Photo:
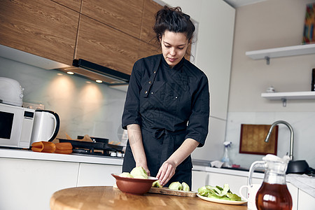
POLYGON ((257 209, 292 209, 292 197, 286 186, 286 168, 290 158, 268 154, 262 160, 253 162, 248 177, 248 185, 251 186, 255 168, 265 168, 264 181, 255 197, 257 209))

